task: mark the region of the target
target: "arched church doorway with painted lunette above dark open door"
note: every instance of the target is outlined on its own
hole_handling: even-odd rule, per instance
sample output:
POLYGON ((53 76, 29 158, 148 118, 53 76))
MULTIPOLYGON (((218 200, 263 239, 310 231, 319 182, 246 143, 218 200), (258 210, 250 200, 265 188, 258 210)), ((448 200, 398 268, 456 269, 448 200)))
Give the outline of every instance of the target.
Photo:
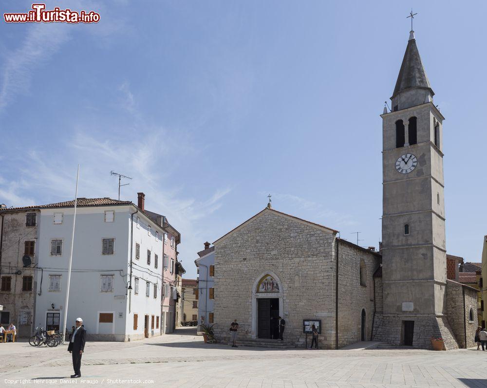
POLYGON ((254 282, 252 294, 252 338, 279 339, 281 281, 274 273, 264 272, 254 282))

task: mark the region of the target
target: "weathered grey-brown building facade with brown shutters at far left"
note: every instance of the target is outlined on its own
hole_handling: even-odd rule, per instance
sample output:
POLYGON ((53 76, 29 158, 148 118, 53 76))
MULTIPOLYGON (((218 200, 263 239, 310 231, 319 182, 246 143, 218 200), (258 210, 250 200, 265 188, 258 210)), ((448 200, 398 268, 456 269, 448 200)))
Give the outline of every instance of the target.
POLYGON ((39 210, 0 210, 0 323, 19 337, 34 333, 39 210))

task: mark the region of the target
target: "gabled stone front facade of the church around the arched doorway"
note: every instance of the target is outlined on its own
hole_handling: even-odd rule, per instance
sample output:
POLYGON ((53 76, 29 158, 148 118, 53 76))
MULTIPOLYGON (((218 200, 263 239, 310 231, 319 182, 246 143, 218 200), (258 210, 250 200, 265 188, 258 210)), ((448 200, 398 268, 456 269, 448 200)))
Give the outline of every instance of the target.
POLYGON ((302 346, 303 319, 321 319, 319 346, 334 349, 334 238, 318 227, 266 211, 215 244, 217 339, 229 340, 233 319, 240 324, 239 338, 252 338, 252 288, 264 273, 273 272, 282 285, 284 340, 302 346))

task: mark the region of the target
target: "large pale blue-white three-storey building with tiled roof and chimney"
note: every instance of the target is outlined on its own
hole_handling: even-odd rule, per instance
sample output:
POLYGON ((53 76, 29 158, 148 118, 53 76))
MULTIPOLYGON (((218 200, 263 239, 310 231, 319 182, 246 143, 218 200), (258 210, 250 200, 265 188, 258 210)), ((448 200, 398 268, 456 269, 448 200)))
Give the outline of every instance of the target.
MULTIPOLYGON (((61 329, 74 201, 38 207, 36 324, 61 329)), ((83 319, 90 340, 130 341, 161 333, 161 222, 138 206, 110 198, 78 198, 68 331, 83 319)))

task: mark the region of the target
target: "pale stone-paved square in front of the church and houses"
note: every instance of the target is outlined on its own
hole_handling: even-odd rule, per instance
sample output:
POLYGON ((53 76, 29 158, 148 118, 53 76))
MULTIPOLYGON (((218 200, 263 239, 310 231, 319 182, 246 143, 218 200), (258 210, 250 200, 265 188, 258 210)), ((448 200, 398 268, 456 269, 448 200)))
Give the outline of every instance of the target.
POLYGON ((192 329, 129 343, 89 342, 81 379, 68 378, 66 346, 0 344, 0 360, 0 387, 487 388, 487 351, 231 348, 204 344, 192 329))

